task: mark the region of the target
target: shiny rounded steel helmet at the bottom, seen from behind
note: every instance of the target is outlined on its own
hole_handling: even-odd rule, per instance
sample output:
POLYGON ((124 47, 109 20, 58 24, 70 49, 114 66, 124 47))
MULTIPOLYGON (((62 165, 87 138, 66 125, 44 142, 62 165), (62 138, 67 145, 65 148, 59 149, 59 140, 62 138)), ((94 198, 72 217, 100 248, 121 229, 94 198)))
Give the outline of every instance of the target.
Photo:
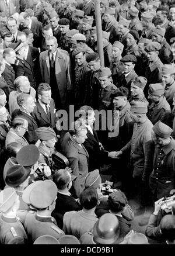
POLYGON ((117 216, 105 213, 93 226, 93 241, 96 244, 113 244, 120 234, 117 216))

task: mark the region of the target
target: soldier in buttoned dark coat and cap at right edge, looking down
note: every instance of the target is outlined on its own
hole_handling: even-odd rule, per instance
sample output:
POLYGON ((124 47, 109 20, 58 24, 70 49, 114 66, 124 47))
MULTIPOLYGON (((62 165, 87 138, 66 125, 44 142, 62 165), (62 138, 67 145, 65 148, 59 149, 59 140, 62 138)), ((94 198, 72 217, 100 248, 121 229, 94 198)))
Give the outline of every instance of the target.
POLYGON ((145 145, 145 169, 142 179, 152 191, 153 199, 169 196, 174 189, 175 141, 173 130, 158 121, 152 128, 152 140, 145 145))

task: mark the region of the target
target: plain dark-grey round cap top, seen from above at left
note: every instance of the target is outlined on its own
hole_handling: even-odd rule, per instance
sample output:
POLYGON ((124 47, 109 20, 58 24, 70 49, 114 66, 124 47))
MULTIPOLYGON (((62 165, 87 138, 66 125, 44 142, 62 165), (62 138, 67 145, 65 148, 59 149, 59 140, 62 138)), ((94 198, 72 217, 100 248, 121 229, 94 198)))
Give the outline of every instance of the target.
POLYGON ((18 164, 25 167, 35 164, 40 157, 40 151, 35 145, 27 145, 22 147, 16 155, 18 164))

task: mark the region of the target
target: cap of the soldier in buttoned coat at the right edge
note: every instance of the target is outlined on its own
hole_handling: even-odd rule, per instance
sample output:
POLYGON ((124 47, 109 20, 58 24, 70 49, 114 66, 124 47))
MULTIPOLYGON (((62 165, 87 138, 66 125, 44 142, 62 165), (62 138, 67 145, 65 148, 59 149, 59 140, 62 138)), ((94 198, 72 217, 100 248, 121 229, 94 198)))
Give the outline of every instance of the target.
POLYGON ((160 120, 157 123, 155 123, 152 129, 157 136, 163 139, 169 138, 171 136, 171 133, 173 132, 173 130, 169 126, 162 123, 160 120))

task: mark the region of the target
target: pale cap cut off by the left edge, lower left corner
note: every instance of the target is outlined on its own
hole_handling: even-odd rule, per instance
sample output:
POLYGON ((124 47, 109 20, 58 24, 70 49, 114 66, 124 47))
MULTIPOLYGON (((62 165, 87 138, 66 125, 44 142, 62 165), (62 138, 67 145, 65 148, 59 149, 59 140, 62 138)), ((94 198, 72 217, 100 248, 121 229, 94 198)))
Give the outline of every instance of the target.
POLYGON ((0 192, 0 212, 6 212, 12 207, 17 198, 14 188, 5 188, 0 192))

